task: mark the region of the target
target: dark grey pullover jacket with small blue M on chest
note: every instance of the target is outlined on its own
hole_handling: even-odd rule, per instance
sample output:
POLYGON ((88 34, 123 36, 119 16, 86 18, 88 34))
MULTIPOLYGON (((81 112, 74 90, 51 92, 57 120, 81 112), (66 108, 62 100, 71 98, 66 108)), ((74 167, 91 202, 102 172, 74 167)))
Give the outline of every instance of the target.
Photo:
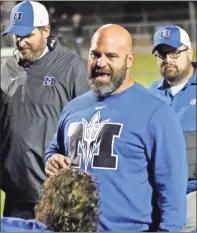
POLYGON ((44 150, 62 108, 87 90, 85 62, 58 40, 29 69, 15 57, 1 65, 0 171, 7 197, 36 202, 46 179, 44 150))

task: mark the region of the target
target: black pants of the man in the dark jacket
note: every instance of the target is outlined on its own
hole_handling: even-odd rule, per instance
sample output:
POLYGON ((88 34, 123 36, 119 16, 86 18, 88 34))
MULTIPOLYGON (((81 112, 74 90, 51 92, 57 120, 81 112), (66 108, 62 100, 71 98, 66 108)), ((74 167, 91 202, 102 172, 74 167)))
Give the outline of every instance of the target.
POLYGON ((23 219, 33 219, 35 203, 30 202, 15 202, 10 198, 5 199, 4 217, 16 217, 23 219))

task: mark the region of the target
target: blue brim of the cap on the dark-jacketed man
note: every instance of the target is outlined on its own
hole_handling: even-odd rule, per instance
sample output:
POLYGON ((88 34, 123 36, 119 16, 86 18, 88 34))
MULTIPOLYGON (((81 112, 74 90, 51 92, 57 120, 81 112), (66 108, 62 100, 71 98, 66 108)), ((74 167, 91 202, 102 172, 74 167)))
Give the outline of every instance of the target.
POLYGON ((26 36, 31 33, 35 27, 20 26, 20 25, 10 25, 1 35, 5 36, 8 33, 17 35, 17 36, 26 36))

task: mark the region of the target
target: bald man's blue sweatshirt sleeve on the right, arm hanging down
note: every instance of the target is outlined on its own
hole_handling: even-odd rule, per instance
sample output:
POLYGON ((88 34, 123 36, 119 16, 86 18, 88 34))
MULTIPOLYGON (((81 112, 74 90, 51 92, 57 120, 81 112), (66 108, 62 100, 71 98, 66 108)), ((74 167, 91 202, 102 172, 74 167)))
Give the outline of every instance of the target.
POLYGON ((170 106, 157 108, 146 136, 158 195, 158 231, 181 231, 186 223, 188 166, 183 132, 170 106))

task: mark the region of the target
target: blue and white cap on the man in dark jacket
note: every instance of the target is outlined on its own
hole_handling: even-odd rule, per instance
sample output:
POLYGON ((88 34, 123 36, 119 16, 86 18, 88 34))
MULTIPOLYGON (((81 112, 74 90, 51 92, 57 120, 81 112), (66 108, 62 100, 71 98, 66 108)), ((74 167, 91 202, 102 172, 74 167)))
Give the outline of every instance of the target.
POLYGON ((17 4, 10 15, 10 26, 2 33, 26 36, 36 27, 49 24, 47 9, 39 2, 24 1, 17 4))

